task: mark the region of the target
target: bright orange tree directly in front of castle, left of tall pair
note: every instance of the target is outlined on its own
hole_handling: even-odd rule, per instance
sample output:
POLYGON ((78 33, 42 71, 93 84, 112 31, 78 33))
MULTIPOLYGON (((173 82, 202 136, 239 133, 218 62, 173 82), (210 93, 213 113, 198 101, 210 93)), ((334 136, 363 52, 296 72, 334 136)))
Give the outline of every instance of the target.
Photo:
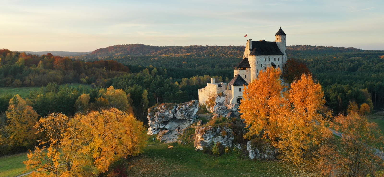
POLYGON ((280 69, 268 67, 260 71, 256 80, 244 88, 241 117, 249 127, 245 138, 262 136, 274 140, 280 131, 279 119, 283 119, 282 107, 286 104, 281 96, 283 86, 280 81, 280 69))

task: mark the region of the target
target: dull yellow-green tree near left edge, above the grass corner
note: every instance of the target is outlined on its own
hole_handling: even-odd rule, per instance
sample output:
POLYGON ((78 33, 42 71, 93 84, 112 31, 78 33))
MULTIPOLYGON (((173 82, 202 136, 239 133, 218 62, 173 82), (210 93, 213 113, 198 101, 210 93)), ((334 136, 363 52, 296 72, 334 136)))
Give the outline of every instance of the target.
POLYGON ((9 143, 14 146, 30 146, 35 144, 37 134, 35 134, 35 124, 39 114, 18 94, 9 101, 9 106, 5 112, 7 115, 7 127, 10 131, 9 143))

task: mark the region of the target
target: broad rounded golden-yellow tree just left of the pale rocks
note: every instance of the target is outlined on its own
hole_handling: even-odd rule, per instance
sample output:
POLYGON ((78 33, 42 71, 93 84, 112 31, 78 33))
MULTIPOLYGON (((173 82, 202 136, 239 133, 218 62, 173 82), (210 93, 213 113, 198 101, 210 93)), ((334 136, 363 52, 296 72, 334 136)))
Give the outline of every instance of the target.
POLYGON ((101 172, 121 157, 137 155, 145 147, 146 133, 143 123, 132 114, 119 109, 92 111, 88 115, 77 115, 75 119, 88 127, 91 141, 87 151, 94 159, 94 165, 101 172))

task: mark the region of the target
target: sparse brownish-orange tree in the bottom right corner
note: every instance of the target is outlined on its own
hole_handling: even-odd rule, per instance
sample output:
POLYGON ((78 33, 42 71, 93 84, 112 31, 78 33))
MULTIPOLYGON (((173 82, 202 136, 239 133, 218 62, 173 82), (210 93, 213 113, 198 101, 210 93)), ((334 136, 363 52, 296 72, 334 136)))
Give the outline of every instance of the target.
POLYGON ((331 127, 341 133, 341 139, 332 137, 321 147, 319 167, 324 174, 341 169, 349 177, 376 176, 383 169, 376 146, 382 146, 383 137, 377 124, 368 122, 356 112, 335 117, 331 127))

